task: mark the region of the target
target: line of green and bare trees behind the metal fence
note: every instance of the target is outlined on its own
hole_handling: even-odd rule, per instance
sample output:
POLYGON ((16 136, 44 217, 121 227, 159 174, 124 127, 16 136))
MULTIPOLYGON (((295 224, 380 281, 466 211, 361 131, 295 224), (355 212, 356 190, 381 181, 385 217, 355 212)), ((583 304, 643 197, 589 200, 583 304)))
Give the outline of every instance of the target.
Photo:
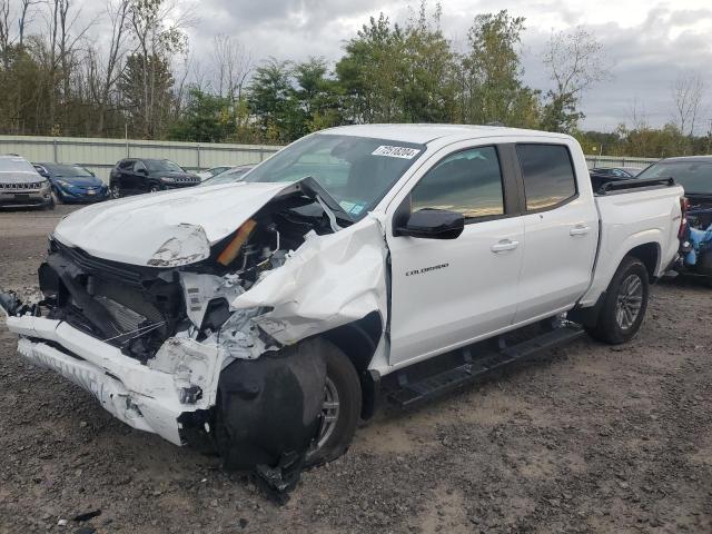
MULTIPOLYGON (((112 20, 120 21, 115 32, 125 33, 109 47, 116 52, 111 69, 92 39, 68 48, 71 34, 62 41, 55 31, 52 40, 49 31, 24 34, 20 44, 0 32, 1 132, 286 144, 344 123, 502 122, 568 132, 590 154, 663 157, 712 146, 712 134, 685 136, 674 126, 580 131, 581 95, 607 76, 601 44, 582 28, 552 33, 542 58, 552 82, 545 93, 523 81, 524 18, 506 10, 475 14, 456 51, 441 29, 441 4, 428 9, 426 0, 403 24, 372 17, 334 65, 269 58, 243 70, 249 61, 217 39, 214 59, 222 62, 216 88, 200 80, 201 68, 200 83, 186 89, 176 58, 188 50, 189 16, 169 0, 122 2, 112 20)), ((56 23, 53 2, 37 6, 50 27, 56 23)))

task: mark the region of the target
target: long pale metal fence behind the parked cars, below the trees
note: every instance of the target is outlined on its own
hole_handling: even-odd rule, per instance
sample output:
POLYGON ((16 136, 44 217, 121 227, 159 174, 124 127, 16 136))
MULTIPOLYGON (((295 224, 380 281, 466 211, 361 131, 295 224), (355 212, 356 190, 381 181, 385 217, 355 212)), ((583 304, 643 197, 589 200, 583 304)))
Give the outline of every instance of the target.
MULTIPOLYGON (((120 159, 168 158, 187 170, 200 171, 221 165, 258 164, 279 150, 275 145, 227 145, 76 137, 0 136, 0 154, 17 154, 33 162, 80 164, 105 181, 120 159)), ((586 156, 589 168, 644 168, 656 159, 586 156)))

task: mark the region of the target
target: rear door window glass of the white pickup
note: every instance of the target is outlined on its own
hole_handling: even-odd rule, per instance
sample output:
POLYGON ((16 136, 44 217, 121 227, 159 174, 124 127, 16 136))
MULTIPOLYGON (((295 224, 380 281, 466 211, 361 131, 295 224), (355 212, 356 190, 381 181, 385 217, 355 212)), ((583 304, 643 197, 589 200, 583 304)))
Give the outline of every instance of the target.
POLYGON ((526 209, 546 209, 576 195, 568 148, 562 145, 517 145, 526 209))

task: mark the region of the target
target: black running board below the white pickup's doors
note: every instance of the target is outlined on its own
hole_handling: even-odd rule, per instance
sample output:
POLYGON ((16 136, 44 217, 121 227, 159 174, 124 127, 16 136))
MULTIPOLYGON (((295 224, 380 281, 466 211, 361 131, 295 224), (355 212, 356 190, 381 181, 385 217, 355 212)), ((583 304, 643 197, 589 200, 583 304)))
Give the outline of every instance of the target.
POLYGON ((462 349, 465 360, 463 365, 414 383, 408 383, 407 375, 402 375, 399 388, 388 396, 388 400, 402 408, 411 407, 421 402, 459 389, 491 372, 514 362, 531 358, 541 352, 565 345, 583 335, 584 330, 578 326, 563 326, 498 352, 486 353, 477 358, 473 358, 467 348, 462 349))

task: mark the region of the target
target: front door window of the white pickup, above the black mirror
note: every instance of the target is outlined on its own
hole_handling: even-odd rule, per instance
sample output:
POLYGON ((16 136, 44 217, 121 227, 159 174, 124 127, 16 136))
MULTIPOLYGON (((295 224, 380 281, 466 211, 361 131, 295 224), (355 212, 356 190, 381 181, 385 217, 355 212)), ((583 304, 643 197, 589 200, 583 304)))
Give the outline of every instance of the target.
POLYGON ((446 209, 466 219, 504 215, 497 150, 479 147, 447 156, 411 192, 411 211, 446 209))

